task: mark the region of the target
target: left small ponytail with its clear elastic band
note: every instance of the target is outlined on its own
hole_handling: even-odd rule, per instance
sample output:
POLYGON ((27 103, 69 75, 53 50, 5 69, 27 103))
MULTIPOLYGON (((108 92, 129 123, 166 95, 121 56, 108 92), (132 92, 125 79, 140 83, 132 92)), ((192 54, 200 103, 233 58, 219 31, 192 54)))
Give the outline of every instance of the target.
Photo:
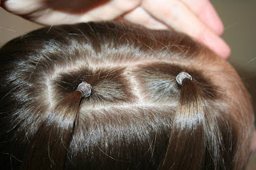
POLYGON ((91 85, 82 82, 78 88, 58 101, 30 141, 22 169, 63 169, 83 97, 89 97, 91 85), (38 164, 41 163, 41 164, 38 164))

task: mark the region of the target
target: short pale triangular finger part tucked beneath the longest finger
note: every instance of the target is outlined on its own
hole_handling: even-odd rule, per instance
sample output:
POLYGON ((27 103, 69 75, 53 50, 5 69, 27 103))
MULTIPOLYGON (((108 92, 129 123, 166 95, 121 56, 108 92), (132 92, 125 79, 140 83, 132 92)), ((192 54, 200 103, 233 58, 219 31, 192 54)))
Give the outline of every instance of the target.
POLYGON ((152 18, 141 6, 122 16, 126 21, 146 26, 154 30, 167 30, 168 27, 152 18))

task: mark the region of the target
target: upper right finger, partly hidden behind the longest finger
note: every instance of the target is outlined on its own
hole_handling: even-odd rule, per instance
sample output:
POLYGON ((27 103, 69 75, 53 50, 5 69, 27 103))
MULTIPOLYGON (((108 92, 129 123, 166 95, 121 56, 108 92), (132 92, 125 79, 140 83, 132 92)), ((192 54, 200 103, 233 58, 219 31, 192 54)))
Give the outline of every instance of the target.
POLYGON ((222 21, 209 0, 182 0, 182 2, 216 34, 221 35, 223 33, 222 21))

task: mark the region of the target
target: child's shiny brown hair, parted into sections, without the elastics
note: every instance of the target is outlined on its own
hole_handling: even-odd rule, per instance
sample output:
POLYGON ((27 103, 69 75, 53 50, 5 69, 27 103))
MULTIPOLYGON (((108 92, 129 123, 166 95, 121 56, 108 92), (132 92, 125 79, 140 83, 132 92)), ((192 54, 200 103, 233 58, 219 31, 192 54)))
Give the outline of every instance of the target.
POLYGON ((1 161, 22 169, 241 169, 253 109, 237 73, 184 34, 43 28, 0 50, 1 161), (178 73, 189 73, 179 85, 178 73), (82 97, 78 85, 92 86, 82 97))

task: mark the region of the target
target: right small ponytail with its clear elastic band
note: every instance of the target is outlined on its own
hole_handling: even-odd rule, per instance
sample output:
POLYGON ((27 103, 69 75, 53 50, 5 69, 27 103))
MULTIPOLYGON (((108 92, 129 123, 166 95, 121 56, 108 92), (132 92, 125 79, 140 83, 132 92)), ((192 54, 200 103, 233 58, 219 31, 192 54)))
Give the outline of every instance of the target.
MULTIPOLYGON (((186 72, 178 73, 176 81, 181 85, 179 102, 172 121, 166 156, 160 169, 201 169, 205 164, 204 152, 208 152, 207 149, 212 152, 212 148, 206 148, 206 142, 217 140, 214 132, 209 135, 211 132, 206 125, 215 122, 207 120, 204 94, 198 82, 186 72)), ((213 164, 210 167, 218 169, 215 156, 218 155, 212 157, 213 164)))

